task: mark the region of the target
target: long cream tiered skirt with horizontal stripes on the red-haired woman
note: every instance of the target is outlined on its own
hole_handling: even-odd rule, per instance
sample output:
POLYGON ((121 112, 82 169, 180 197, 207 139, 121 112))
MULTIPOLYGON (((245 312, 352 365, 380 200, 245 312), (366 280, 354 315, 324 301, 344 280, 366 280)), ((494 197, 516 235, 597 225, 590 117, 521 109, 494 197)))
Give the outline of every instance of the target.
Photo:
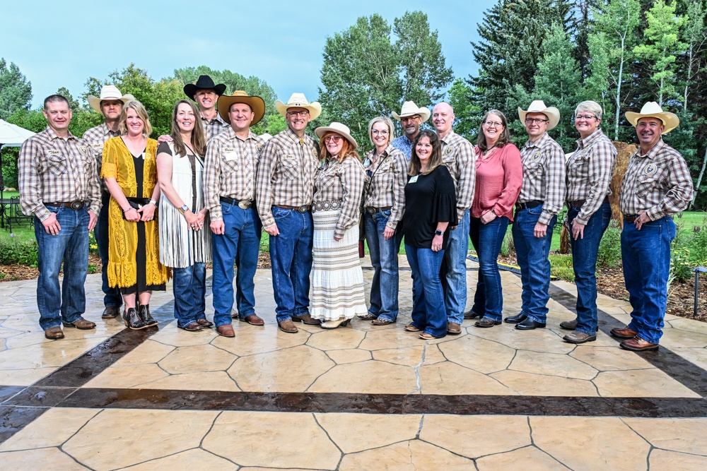
POLYGON ((358 225, 334 241, 334 228, 341 210, 312 213, 312 299, 310 314, 322 321, 336 321, 365 315, 363 271, 358 258, 358 225))

